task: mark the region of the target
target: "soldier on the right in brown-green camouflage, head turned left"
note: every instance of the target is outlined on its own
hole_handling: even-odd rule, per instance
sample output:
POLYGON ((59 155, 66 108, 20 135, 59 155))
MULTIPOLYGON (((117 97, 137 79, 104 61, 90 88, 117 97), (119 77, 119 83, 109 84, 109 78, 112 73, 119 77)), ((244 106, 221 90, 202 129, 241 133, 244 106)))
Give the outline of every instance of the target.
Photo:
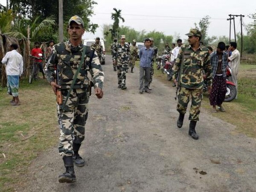
POLYGON ((177 127, 181 128, 189 103, 189 96, 192 96, 191 107, 189 111, 189 135, 197 140, 198 134, 195 131, 196 122, 199 120, 201 100, 203 98, 203 71, 206 75, 206 81, 209 91, 212 86, 212 67, 208 49, 200 45, 201 32, 198 29, 190 29, 189 45, 183 45, 180 48, 178 57, 174 65, 173 81, 180 87, 178 93, 177 111, 180 113, 177 120, 177 127), (178 75, 179 74, 179 75, 178 75))

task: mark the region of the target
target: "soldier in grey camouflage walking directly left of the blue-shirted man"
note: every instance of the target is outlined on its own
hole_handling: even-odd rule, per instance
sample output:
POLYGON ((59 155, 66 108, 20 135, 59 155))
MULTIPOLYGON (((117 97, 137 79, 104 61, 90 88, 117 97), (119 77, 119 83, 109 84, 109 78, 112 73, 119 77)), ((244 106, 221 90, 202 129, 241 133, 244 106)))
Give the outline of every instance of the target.
POLYGON ((126 73, 130 62, 130 46, 125 44, 125 35, 121 35, 121 42, 113 49, 113 63, 117 68, 118 88, 125 90, 126 73))

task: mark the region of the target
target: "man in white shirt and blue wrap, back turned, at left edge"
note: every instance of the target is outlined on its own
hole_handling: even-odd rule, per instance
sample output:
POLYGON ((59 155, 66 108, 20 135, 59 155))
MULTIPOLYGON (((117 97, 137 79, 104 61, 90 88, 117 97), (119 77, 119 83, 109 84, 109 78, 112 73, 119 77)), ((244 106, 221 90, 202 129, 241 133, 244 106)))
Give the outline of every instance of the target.
POLYGON ((2 63, 6 66, 7 90, 12 95, 12 105, 20 105, 19 100, 19 77, 23 73, 23 58, 17 52, 18 45, 11 44, 9 52, 2 59, 2 63))

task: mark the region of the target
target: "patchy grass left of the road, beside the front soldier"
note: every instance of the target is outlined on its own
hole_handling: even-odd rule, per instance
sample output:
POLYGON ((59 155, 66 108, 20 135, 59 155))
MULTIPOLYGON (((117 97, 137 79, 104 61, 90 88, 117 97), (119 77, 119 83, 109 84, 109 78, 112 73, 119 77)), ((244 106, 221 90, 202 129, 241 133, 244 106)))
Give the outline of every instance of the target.
POLYGON ((58 143, 55 96, 47 81, 23 79, 19 92, 21 105, 12 106, 6 88, 0 89, 1 191, 19 188, 31 160, 58 143))

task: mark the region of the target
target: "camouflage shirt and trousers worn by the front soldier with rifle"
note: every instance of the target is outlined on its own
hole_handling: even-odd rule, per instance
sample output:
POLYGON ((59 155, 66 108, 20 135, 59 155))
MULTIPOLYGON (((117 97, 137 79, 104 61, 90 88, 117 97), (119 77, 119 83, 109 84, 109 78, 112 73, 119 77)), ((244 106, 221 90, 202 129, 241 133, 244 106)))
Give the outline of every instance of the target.
MULTIPOLYGON (((84 63, 67 100, 66 109, 62 113, 62 129, 58 148, 59 154, 62 156, 72 156, 72 143, 81 144, 84 140, 84 126, 88 116, 88 87, 90 83, 90 80, 87 78, 87 71, 89 70, 93 77, 94 87, 101 89, 103 87, 104 73, 102 72, 96 52, 91 63, 91 69, 89 69, 87 63, 90 59, 90 47, 83 47, 82 44, 78 47, 73 47, 70 41, 54 45, 47 63, 46 75, 49 82, 55 81, 54 70, 57 65, 64 102, 73 77, 79 67, 84 48, 86 49, 84 63)), ((58 116, 60 115, 59 107, 57 107, 57 114, 58 116)))

